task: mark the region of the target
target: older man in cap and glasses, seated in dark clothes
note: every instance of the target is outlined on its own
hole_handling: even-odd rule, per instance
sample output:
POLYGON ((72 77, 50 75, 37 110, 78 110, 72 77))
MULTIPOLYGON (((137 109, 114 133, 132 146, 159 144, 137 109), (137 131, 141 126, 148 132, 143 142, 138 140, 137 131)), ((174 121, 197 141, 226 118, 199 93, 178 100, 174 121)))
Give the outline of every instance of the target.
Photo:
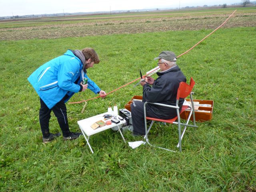
MULTIPOLYGON (((133 134, 145 135, 144 122, 144 102, 157 102, 168 105, 176 105, 177 91, 180 82, 186 82, 186 77, 176 64, 176 55, 170 51, 162 51, 158 57, 158 66, 160 72, 157 72, 158 78, 154 80, 152 77, 146 77, 145 81, 141 81, 143 86, 143 100, 134 101, 131 104, 133 134), (151 86, 150 86, 151 85, 151 86)), ((184 99, 179 100, 180 110, 184 99)), ((170 119, 177 116, 176 109, 163 106, 148 104, 146 107, 146 115, 153 118, 170 119)))

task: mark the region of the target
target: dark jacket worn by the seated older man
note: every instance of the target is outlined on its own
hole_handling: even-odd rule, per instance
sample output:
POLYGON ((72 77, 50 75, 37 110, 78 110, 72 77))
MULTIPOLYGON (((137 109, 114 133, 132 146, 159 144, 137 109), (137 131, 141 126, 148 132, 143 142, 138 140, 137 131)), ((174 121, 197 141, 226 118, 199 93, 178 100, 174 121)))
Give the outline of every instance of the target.
MULTIPOLYGON (((156 74, 158 75, 158 78, 154 81, 152 86, 148 84, 143 86, 143 102, 147 101, 175 106, 180 82, 186 82, 186 77, 178 65, 165 72, 157 72, 156 74)), ((180 110, 183 102, 184 99, 180 98, 180 110)), ((148 104, 146 109, 151 110, 157 116, 161 116, 166 119, 173 118, 177 115, 176 109, 163 106, 148 104)))

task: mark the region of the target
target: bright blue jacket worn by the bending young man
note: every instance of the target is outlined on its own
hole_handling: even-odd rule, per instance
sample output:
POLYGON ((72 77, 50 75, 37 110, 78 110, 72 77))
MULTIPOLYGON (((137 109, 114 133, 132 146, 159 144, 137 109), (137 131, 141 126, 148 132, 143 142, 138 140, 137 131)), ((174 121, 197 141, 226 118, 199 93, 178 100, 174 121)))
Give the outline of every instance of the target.
MULTIPOLYGON (((82 75, 88 78, 87 74, 83 73, 82 68, 82 61, 71 50, 68 50, 64 55, 40 66, 28 77, 28 81, 51 109, 65 95, 68 97, 64 102, 67 102, 74 93, 79 92, 82 75)), ((90 78, 88 78, 87 84, 88 89, 95 94, 100 91, 97 84, 90 78)))

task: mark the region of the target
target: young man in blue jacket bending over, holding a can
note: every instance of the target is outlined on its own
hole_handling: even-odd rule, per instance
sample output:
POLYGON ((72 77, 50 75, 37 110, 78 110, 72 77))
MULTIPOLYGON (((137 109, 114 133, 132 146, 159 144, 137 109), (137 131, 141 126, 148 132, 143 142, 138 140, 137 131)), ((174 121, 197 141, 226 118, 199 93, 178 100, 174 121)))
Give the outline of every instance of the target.
POLYGON ((82 51, 68 50, 64 55, 40 66, 28 77, 28 81, 40 97, 39 121, 43 143, 60 136, 60 133, 50 133, 51 111, 57 117, 64 140, 73 140, 80 136, 81 133, 69 130, 65 103, 74 93, 82 92, 87 88, 102 98, 106 97, 106 92, 100 90, 86 74, 88 68, 99 62, 98 54, 92 48, 84 48, 82 51), (88 79, 87 84, 82 84, 84 78, 88 79))

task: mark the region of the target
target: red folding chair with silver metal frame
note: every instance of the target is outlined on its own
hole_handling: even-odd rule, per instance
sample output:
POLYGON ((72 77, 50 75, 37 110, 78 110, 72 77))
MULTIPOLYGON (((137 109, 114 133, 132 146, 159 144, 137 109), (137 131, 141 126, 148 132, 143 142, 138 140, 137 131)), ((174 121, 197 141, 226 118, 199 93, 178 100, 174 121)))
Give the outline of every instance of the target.
MULTIPOLYGON (((184 133, 186 131, 186 128, 187 126, 188 127, 195 127, 197 128, 198 126, 196 126, 196 119, 195 119, 195 111, 194 111, 194 102, 193 102, 193 99, 192 99, 192 89, 194 87, 194 80, 193 78, 191 77, 190 78, 190 85, 186 84, 185 82, 180 82, 180 86, 178 88, 178 92, 177 92, 177 97, 176 97, 176 106, 173 106, 173 105, 167 105, 167 104, 161 104, 161 103, 150 103, 150 102, 145 102, 144 104, 144 120, 145 120, 145 130, 146 130, 146 135, 144 138, 146 138, 146 142, 148 144, 150 144, 150 142, 148 141, 148 132, 150 131, 150 128, 152 127, 153 123, 155 121, 159 121, 159 122, 166 122, 166 123, 171 123, 171 124, 178 124, 178 132, 179 132, 179 142, 178 142, 178 145, 177 145, 177 148, 179 147, 180 148, 180 152, 181 152, 181 140, 184 136, 184 133), (190 95, 190 100, 191 100, 191 106, 187 106, 187 105, 183 105, 182 106, 182 109, 181 111, 179 112, 179 106, 178 106, 178 103, 179 103, 179 99, 180 98, 186 98, 188 95, 190 95), (165 106, 165 107, 170 107, 170 108, 175 108, 177 110, 177 116, 172 118, 172 119, 158 119, 158 118, 152 118, 152 117, 147 117, 146 116, 146 105, 150 103, 150 104, 154 104, 154 105, 159 105, 159 106, 165 106), (188 118, 186 120, 186 124, 184 123, 181 123, 180 122, 180 114, 182 112, 184 112, 187 108, 190 108, 190 114, 188 115, 188 118), (193 124, 188 124, 189 123, 189 120, 190 120, 190 117, 192 116, 193 114, 193 124), (176 121, 178 119, 178 122, 176 121), (147 120, 152 120, 149 128, 147 128, 147 120), (184 126, 184 129, 182 131, 182 134, 181 134, 181 126, 184 126)), ((152 145, 150 144, 150 146, 154 146, 154 147, 158 147, 158 148, 161 148, 161 149, 164 149, 164 150, 168 150, 168 151, 172 151, 172 152, 175 152, 173 150, 170 150, 170 149, 167 149, 167 148, 163 148, 163 147, 159 147, 159 146, 156 146, 156 145, 152 145)))

